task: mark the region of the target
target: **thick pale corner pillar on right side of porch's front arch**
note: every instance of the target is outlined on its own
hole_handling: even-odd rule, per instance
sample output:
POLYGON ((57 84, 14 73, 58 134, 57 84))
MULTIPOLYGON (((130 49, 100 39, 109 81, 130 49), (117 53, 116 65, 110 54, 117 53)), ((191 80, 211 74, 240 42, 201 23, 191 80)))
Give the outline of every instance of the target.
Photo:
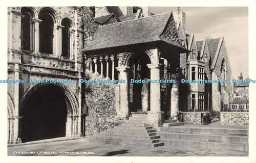
MULTIPOLYGON (((160 79, 160 64, 147 64, 151 70, 151 79, 160 79)), ((162 125, 160 83, 152 83, 150 86, 150 112, 147 113, 147 121, 154 127, 162 125)))

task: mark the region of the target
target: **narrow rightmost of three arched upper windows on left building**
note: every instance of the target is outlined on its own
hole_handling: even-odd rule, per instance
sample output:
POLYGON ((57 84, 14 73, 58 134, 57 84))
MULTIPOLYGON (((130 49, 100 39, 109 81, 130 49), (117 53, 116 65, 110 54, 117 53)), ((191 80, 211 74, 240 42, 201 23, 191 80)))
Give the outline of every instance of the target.
POLYGON ((71 55, 71 34, 70 34, 70 28, 71 28, 71 21, 68 18, 65 18, 61 21, 62 28, 62 57, 70 58, 71 55))

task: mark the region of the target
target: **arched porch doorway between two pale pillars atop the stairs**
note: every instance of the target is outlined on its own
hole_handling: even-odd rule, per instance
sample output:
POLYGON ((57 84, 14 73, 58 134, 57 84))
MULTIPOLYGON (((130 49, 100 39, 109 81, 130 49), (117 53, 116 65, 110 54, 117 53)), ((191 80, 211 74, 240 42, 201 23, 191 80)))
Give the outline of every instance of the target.
MULTIPOLYGON (((150 58, 145 53, 133 54, 129 58, 129 77, 135 80, 150 78, 150 58)), ((130 83, 130 112, 148 111, 150 106, 150 83, 130 83)))

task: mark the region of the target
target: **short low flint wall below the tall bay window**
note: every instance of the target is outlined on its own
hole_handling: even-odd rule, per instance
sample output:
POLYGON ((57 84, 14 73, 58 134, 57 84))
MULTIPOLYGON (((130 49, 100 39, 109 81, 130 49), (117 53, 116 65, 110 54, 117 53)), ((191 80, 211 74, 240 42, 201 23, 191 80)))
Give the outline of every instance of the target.
POLYGON ((209 112, 180 112, 185 124, 202 124, 201 114, 209 112))

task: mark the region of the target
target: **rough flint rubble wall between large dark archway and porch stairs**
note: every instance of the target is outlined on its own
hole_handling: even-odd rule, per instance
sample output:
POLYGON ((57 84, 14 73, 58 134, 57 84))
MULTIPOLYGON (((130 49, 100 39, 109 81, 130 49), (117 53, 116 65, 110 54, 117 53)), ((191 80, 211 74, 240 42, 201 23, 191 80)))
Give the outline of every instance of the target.
POLYGON ((120 125, 116 118, 115 84, 87 84, 85 133, 92 135, 120 125))

